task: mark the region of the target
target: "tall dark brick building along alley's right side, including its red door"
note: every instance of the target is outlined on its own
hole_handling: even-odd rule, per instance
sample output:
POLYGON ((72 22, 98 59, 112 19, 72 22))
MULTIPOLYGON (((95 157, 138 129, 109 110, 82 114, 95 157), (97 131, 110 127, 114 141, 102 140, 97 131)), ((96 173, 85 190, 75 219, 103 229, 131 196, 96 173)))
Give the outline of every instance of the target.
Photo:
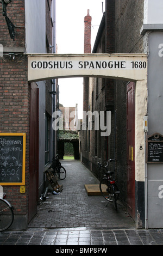
MULTIPOLYGON (((146 38, 145 41, 145 37, 140 31, 144 22, 147 2, 150 1, 106 0, 105 13, 92 53, 146 53, 145 45, 147 46, 148 39, 146 38)), ((135 142, 128 144, 131 143, 129 142, 131 138, 128 126, 130 120, 133 120, 134 139, 136 140, 136 136, 139 136, 134 134, 133 130, 135 129, 134 107, 136 105, 133 105, 133 112, 129 116, 130 103, 128 99, 131 96, 128 93, 135 92, 136 84, 133 82, 116 80, 116 78, 114 80, 102 77, 87 78, 89 93, 87 93, 83 109, 84 111, 98 111, 98 113, 110 111, 111 133, 108 137, 101 137, 100 131, 89 131, 88 129, 81 131, 80 144, 82 145, 82 162, 98 179, 101 179, 102 173, 97 168, 97 162, 100 161, 104 164, 108 159, 116 158, 115 172, 121 191, 120 199, 128 207, 128 212, 134 218, 136 226, 141 228, 146 225, 145 180, 136 178, 134 165, 131 167, 133 168, 132 173, 129 170, 130 164, 138 161, 134 155, 135 142), (130 90, 130 88, 133 89, 130 90), (131 153, 130 160, 131 149, 133 153, 131 153)), ((141 145, 140 149, 142 149, 141 145)), ((144 172, 143 167, 141 172, 144 172)))

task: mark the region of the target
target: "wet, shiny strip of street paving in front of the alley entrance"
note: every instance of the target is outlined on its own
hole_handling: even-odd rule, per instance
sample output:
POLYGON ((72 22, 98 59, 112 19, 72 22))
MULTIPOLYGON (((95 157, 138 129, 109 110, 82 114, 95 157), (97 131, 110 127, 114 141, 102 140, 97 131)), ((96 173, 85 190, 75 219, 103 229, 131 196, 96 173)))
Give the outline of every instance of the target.
POLYGON ((1 232, 0 245, 163 245, 163 230, 29 228, 27 231, 1 232))

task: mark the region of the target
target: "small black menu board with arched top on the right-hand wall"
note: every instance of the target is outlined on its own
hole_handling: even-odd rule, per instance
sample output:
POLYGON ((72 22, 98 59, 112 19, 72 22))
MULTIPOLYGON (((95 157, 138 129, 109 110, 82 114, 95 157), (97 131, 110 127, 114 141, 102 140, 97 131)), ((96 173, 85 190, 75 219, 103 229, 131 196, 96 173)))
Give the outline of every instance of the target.
POLYGON ((163 163, 163 137, 154 133, 147 140, 147 162, 163 163))

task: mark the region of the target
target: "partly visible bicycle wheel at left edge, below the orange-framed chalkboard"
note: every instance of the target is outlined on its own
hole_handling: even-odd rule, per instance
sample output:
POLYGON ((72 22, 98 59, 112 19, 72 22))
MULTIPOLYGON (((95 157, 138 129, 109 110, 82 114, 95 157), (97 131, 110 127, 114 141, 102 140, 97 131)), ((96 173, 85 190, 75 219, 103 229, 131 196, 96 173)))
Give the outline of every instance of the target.
POLYGON ((0 231, 6 230, 14 221, 12 206, 5 199, 0 198, 0 231))

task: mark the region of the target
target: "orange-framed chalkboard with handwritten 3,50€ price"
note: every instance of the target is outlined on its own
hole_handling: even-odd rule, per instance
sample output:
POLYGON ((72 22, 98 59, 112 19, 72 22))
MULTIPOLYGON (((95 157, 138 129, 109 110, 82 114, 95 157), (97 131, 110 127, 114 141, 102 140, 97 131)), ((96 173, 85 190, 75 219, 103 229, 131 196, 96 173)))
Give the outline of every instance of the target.
POLYGON ((0 185, 25 185, 26 133, 0 133, 0 185))

